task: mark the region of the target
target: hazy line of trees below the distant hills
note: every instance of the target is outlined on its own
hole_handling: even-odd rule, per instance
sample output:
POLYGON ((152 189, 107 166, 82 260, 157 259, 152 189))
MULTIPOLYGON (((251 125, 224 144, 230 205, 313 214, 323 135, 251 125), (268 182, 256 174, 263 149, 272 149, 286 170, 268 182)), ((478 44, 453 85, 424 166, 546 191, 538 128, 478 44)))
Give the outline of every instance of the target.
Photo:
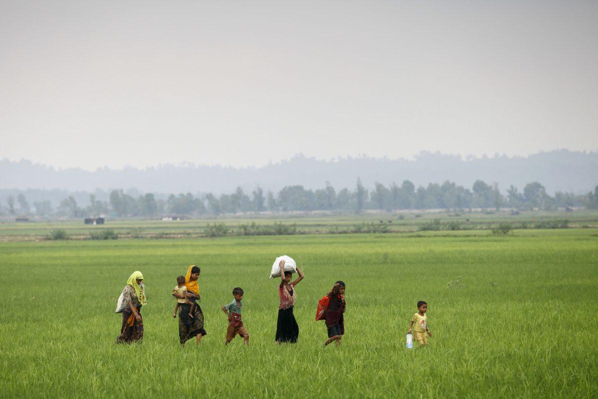
POLYGON ((33 202, 30 206, 24 194, 9 196, 7 207, 0 208, 2 214, 38 215, 57 217, 89 217, 112 215, 115 217, 157 217, 158 215, 221 215, 238 212, 288 212, 288 211, 348 211, 362 212, 367 209, 397 211, 401 209, 471 209, 501 208, 552 210, 566 206, 584 206, 598 209, 598 185, 594 191, 576 195, 557 191, 550 196, 539 182, 530 182, 523 191, 511 185, 501 193, 496 184, 475 181, 471 190, 454 182, 415 185, 405 180, 401 185, 392 182, 385 185, 376 182, 368 190, 358 179, 352 190, 335 190, 329 183, 317 190, 302 185, 288 185, 278 193, 264 193, 260 187, 245 193, 241 187, 230 194, 216 196, 212 193, 193 195, 191 193, 170 194, 167 199, 156 199, 146 193, 133 197, 123 190, 112 190, 109 199, 102 201, 90 194, 89 205, 78 206, 74 197, 63 199, 53 208, 50 200, 33 202))

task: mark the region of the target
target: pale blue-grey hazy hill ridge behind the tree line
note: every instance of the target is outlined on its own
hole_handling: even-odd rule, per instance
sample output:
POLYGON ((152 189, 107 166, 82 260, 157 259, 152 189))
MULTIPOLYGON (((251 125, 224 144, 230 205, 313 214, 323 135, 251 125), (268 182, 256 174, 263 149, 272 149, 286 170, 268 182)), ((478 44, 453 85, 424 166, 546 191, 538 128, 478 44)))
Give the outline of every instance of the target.
POLYGON ((471 187, 481 179, 497 183, 501 191, 513 184, 520 190, 532 181, 547 192, 587 193, 598 184, 598 152, 557 150, 528 157, 463 159, 446 154, 420 153, 415 160, 347 157, 317 160, 298 155, 263 167, 160 165, 146 169, 97 169, 94 172, 54 169, 28 160, 0 160, 0 188, 94 191, 136 188, 155 193, 230 193, 237 186, 251 192, 257 185, 278 191, 285 185, 321 188, 329 181, 335 188, 353 188, 357 178, 366 188, 374 182, 389 184, 409 179, 416 186, 446 180, 471 187))

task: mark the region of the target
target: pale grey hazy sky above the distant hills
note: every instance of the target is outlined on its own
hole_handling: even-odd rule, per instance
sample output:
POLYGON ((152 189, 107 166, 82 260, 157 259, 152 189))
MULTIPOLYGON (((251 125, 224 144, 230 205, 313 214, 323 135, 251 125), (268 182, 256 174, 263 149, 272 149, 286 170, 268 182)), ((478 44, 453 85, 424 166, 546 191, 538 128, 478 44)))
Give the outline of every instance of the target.
POLYGON ((598 1, 0 0, 0 158, 598 149, 598 1))

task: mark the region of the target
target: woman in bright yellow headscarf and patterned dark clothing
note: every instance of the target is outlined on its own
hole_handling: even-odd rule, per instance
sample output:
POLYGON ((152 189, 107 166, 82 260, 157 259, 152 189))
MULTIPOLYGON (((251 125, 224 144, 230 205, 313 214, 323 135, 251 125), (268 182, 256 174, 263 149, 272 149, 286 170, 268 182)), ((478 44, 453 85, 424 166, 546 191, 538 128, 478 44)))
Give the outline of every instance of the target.
POLYGON ((144 337, 144 321, 141 318, 141 306, 147 304, 145 299, 144 275, 133 272, 123 289, 124 309, 123 325, 117 343, 132 343, 144 337))

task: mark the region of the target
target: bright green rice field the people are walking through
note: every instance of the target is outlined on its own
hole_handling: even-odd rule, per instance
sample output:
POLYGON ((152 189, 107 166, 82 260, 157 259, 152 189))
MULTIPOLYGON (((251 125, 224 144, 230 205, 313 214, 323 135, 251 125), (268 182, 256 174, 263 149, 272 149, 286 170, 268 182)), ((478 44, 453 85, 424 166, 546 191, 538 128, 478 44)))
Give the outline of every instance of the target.
POLYGON ((598 229, 0 242, 0 396, 598 397, 598 229), (274 344, 274 258, 301 260, 295 345, 274 344), (188 265, 205 328, 181 347, 170 293, 188 265), (129 275, 142 343, 114 345, 129 275), (456 284, 459 278, 459 284, 456 284), (318 299, 346 282, 346 334, 323 347, 318 299), (452 284, 450 284, 452 282, 452 284), (220 306, 245 290, 250 346, 220 306), (405 348, 416 302, 434 336, 405 348))

